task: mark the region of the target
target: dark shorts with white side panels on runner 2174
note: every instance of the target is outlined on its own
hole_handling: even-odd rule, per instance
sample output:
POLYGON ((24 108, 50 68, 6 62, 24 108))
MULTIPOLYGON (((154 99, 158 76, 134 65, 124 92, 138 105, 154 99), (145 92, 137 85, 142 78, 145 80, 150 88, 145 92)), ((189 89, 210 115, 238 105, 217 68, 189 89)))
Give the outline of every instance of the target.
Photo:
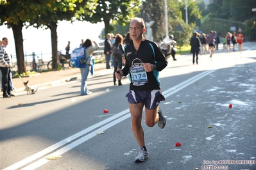
POLYGON ((147 109, 155 109, 160 101, 166 100, 160 89, 153 89, 152 91, 130 90, 125 97, 128 98, 129 104, 138 104, 142 102, 147 109))

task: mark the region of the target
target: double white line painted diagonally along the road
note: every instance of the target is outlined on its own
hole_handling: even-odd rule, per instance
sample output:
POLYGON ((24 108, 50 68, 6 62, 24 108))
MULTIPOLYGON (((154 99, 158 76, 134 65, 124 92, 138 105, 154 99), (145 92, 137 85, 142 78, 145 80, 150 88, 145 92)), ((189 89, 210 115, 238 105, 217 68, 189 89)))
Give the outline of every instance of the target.
MULTIPOLYGON (((226 62, 223 62, 222 65, 226 65, 226 62)), ((209 75, 210 73, 215 72, 216 70, 221 68, 222 65, 215 66, 215 68, 212 70, 207 70, 205 72, 201 72, 198 75, 195 75, 194 77, 191 77, 190 79, 187 79, 186 81, 183 81, 180 84, 177 84, 173 88, 167 89, 166 91, 162 92, 162 94, 164 95, 164 97, 167 98, 167 97, 173 95, 174 93, 180 91, 181 89, 186 88, 190 84, 202 79, 206 75, 209 75)), ((127 118, 130 118, 129 109, 119 112, 118 114, 115 114, 114 116, 111 116, 110 118, 107 118, 106 120, 100 121, 99 123, 96 123, 95 125, 92 125, 91 127, 78 132, 77 134, 71 135, 70 137, 67 137, 67 139, 64 139, 56 144, 53 144, 52 146, 49 146, 48 148, 46 148, 42 151, 39 151, 38 153, 31 155, 30 157, 24 158, 23 160, 13 164, 12 166, 6 167, 3 170, 18 169, 22 166, 25 166, 26 164, 29 164, 30 162, 33 162, 34 160, 37 160, 38 158, 44 157, 44 158, 41 158, 40 160, 37 160, 36 162, 33 162, 33 164, 30 164, 29 166, 26 166, 23 168, 23 169, 36 169, 37 167, 40 167, 40 166, 46 164, 47 162, 49 162, 49 160, 47 160, 46 157, 49 157, 52 155, 55 155, 55 156, 62 155, 63 153, 73 149, 74 147, 78 146, 79 144, 84 143, 85 141, 94 137, 95 135, 97 135, 96 134, 97 132, 107 130, 108 128, 116 125, 117 123, 120 123, 123 120, 126 120, 127 118), (123 117, 121 117, 121 116, 123 116, 123 117), (119 117, 121 117, 121 118, 119 118, 119 117), (117 119, 117 120, 115 120, 115 119, 117 119), (110 121, 112 121, 112 122, 110 122, 110 121), (110 122, 110 123, 108 123, 108 122, 110 122), (108 123, 108 124, 105 125, 106 123, 108 123), (105 125, 105 126, 101 127, 102 125, 105 125), (98 127, 101 127, 101 128, 98 128, 98 127), (98 128, 98 129, 94 130, 96 128, 98 128), (92 130, 94 130, 94 132, 87 134, 92 130), (87 134, 87 135, 85 135, 85 134, 87 134), (82 135, 85 135, 85 136, 81 137, 82 135), (81 138, 77 139, 78 137, 81 137, 81 138), (74 141, 74 139, 77 139, 77 140, 74 141), (70 144, 67 144, 67 143, 70 143, 70 144), (64 146, 65 144, 67 144, 67 146, 64 146), (64 146, 64 147, 62 147, 62 146, 64 146), (60 147, 62 147, 62 148, 60 148, 60 147), (57 150, 58 148, 60 148, 60 149, 57 150), (56 150, 56 151, 54 153, 51 153, 54 150, 56 150), (51 153, 51 154, 49 154, 49 153, 51 153), (47 154, 49 154, 49 155, 47 155, 47 154)))

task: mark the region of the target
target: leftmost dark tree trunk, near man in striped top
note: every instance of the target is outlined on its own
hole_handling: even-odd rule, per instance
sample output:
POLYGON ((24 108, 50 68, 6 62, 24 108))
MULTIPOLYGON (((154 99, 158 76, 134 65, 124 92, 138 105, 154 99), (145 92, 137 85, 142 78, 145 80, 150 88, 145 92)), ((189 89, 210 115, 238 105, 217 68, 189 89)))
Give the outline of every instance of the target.
POLYGON ((17 25, 10 24, 12 27, 14 42, 15 42, 15 50, 16 50, 16 59, 18 66, 18 73, 26 73, 27 68, 24 60, 24 50, 23 50, 23 38, 22 38, 22 27, 23 23, 19 21, 17 25))

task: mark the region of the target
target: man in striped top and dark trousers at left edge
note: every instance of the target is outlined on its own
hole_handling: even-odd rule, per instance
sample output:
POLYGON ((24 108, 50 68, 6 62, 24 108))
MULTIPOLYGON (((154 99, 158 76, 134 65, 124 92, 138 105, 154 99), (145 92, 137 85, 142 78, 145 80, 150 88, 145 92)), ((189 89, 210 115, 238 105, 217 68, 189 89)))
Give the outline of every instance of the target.
POLYGON ((3 45, 0 47, 0 70, 2 73, 2 88, 3 97, 12 97, 12 58, 6 47, 8 45, 8 38, 3 38, 3 45))

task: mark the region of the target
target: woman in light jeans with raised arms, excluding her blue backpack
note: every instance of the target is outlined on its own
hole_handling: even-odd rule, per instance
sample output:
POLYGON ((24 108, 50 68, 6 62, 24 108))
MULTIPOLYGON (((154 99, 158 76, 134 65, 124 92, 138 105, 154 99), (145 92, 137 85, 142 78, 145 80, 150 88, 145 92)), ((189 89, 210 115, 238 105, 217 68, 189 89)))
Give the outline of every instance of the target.
POLYGON ((87 88, 87 77, 90 72, 90 68, 92 65, 92 58, 91 54, 94 52, 94 50, 99 49, 99 44, 97 42, 94 42, 90 39, 85 40, 83 43, 82 47, 85 47, 85 58, 86 58, 86 63, 85 67, 80 68, 81 71, 81 95, 90 95, 92 94, 91 91, 87 88), (92 46, 92 43, 94 43, 94 46, 92 46))

